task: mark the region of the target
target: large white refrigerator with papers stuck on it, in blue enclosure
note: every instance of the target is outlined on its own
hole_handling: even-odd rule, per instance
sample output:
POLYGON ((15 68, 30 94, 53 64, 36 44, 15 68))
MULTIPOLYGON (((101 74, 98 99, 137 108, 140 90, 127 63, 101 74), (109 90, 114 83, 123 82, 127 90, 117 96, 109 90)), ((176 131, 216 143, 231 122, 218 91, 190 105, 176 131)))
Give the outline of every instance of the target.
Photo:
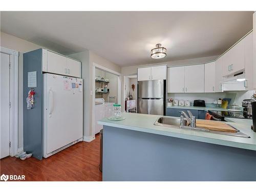
POLYGON ((45 73, 43 156, 82 141, 82 79, 45 73))

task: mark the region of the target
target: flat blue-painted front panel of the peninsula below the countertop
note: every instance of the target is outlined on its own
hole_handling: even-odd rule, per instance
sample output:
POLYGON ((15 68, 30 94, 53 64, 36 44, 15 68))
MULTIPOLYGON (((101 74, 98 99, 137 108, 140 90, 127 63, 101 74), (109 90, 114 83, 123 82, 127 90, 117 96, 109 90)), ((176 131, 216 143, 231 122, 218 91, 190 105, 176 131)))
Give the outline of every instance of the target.
POLYGON ((103 181, 256 181, 256 152, 103 126, 103 181))

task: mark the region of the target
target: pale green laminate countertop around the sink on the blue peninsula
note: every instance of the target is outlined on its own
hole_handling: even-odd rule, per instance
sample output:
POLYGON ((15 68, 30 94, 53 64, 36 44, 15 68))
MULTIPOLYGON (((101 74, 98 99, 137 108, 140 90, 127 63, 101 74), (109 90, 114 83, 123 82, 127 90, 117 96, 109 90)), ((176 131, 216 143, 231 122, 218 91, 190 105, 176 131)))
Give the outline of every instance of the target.
POLYGON ((250 119, 225 118, 227 121, 225 123, 230 124, 231 126, 240 130, 242 133, 250 136, 250 138, 242 138, 154 125, 155 121, 161 117, 159 115, 123 113, 123 117, 125 117, 125 119, 121 121, 112 121, 105 118, 98 121, 98 123, 101 125, 118 127, 120 129, 134 130, 256 151, 256 133, 251 130, 252 120, 250 119))

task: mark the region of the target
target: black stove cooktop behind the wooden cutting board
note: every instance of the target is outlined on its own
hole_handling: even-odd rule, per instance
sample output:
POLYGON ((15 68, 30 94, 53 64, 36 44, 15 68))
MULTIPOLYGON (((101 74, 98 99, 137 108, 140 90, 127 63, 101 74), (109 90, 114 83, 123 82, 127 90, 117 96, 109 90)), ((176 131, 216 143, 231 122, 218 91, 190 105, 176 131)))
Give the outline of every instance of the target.
POLYGON ((214 111, 209 110, 208 113, 220 121, 225 121, 227 118, 240 118, 240 119, 251 119, 250 116, 246 116, 243 112, 230 112, 230 111, 214 111))

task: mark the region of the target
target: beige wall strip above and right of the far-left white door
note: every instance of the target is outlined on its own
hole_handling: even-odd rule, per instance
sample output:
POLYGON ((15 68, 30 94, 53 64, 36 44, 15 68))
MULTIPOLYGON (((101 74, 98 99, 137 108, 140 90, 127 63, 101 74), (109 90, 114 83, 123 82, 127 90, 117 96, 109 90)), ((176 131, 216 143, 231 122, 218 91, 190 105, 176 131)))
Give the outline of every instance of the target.
POLYGON ((19 52, 18 56, 18 147, 23 147, 23 53, 42 48, 24 39, 1 32, 1 47, 19 52))

